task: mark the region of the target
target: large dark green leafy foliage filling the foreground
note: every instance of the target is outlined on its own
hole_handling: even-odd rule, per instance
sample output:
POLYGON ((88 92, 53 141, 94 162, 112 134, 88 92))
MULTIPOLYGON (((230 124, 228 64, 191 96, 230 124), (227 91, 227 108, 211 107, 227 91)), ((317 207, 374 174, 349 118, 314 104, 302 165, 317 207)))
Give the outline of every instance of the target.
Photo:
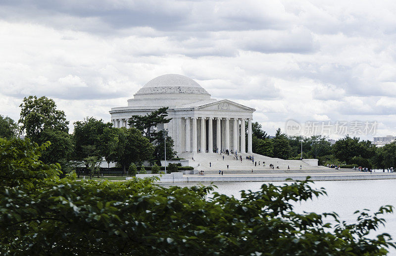
MULTIPOLYGON (((10 151, 13 144, 4 150, 0 139, 0 175, 39 172, 29 177, 41 182, 5 176, 1 183, 1 255, 386 255, 395 246, 387 234, 367 237, 384 224, 382 213, 393 212, 390 205, 374 215, 356 211, 354 224, 336 213, 294 212, 292 202, 326 194, 309 180, 263 184, 260 191, 242 191, 241 200, 216 192, 208 199, 211 186, 76 181, 75 174, 59 179, 56 165, 37 158, 19 165, 26 156, 11 152, 22 152, 24 143, 10 151), (338 224, 325 223, 325 216, 338 224)), ((44 150, 26 144, 32 147, 31 154, 44 150)))

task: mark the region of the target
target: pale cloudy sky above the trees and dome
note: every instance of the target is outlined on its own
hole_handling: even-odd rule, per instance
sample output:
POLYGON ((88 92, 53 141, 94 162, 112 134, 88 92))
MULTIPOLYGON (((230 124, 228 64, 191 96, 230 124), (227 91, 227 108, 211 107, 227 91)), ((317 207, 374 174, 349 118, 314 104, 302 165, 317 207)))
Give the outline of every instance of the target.
POLYGON ((396 1, 1 0, 0 114, 18 120, 24 97, 45 95, 71 124, 109 121, 176 73, 254 107, 270 135, 289 119, 396 135, 395 13, 396 1))

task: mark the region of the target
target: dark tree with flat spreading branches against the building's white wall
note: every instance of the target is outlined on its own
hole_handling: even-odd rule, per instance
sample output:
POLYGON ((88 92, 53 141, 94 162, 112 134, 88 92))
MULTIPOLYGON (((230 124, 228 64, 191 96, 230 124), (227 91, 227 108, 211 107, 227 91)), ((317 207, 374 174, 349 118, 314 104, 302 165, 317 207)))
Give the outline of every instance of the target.
POLYGON ((168 116, 168 108, 160 107, 147 115, 133 115, 129 118, 128 124, 143 132, 151 141, 150 129, 157 126, 157 124, 169 123, 172 120, 172 118, 166 118, 168 116))

